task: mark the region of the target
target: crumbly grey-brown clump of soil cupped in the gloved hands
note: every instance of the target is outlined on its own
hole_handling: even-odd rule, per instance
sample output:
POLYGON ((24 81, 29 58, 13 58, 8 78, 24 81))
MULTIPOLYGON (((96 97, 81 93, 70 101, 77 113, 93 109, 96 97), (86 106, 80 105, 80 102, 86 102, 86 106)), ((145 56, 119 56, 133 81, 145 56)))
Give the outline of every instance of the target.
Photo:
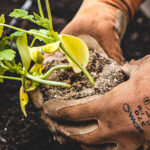
MULTIPOLYGON (((67 64, 65 57, 46 63, 46 69, 58 64, 67 64)), ((82 72, 75 74, 72 69, 55 71, 48 80, 71 84, 71 88, 41 85, 40 89, 43 93, 44 100, 71 100, 104 94, 124 81, 124 75, 120 66, 114 60, 101 55, 96 50, 90 50, 90 60, 87 70, 95 81, 94 86, 91 85, 82 72)))

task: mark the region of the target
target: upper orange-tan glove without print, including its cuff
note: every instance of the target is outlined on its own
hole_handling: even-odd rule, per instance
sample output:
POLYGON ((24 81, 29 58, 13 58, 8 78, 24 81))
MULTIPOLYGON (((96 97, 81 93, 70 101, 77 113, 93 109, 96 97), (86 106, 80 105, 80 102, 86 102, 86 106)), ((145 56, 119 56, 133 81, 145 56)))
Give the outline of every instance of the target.
POLYGON ((123 64, 120 42, 142 0, 84 0, 62 33, 94 37, 108 56, 123 64))

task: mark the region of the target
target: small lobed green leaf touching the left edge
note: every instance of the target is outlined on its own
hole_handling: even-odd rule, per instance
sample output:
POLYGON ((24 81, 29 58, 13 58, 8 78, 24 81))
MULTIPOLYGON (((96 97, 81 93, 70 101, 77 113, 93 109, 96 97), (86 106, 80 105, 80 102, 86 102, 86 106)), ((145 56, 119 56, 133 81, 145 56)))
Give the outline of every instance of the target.
POLYGON ((12 61, 15 58, 16 52, 12 49, 0 51, 0 60, 12 61))

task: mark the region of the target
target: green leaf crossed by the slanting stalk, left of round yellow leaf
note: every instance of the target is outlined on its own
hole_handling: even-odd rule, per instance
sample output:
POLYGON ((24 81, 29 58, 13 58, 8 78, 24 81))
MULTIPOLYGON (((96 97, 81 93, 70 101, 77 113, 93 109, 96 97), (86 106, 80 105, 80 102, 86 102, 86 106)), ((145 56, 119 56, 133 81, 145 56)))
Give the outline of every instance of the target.
MULTIPOLYGON (((32 32, 32 33, 38 33, 38 34, 41 34, 41 35, 45 35, 45 36, 51 37, 50 32, 48 30, 45 30, 45 29, 40 29, 40 30, 31 29, 29 31, 32 32)), ((33 35, 33 36, 36 39, 38 39, 39 41, 44 42, 45 44, 49 44, 49 43, 55 41, 55 40, 47 39, 47 38, 44 38, 44 37, 41 37, 41 36, 37 36, 37 35, 33 35)))

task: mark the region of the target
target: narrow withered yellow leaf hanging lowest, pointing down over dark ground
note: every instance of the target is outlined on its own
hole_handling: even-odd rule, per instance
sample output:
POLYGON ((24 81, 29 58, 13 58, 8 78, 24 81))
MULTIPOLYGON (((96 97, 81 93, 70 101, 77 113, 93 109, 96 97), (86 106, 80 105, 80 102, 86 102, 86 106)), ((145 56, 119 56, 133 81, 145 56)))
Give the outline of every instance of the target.
POLYGON ((20 106, 21 106, 21 110, 25 117, 27 117, 25 106, 28 103, 28 99, 29 99, 28 94, 24 91, 24 87, 21 86, 21 88, 20 88, 20 106))

